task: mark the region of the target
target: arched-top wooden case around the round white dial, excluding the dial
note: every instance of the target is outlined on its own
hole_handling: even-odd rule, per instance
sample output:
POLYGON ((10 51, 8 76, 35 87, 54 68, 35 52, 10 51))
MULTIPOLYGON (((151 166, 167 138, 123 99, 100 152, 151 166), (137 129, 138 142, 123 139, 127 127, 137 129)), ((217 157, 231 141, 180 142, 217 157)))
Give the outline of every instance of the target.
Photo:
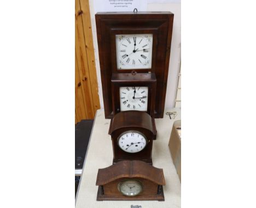
POLYGON ((113 164, 124 160, 140 160, 152 164, 152 146, 156 138, 154 118, 142 111, 123 111, 114 116, 110 122, 109 132, 113 146, 113 164), (126 131, 143 133, 148 140, 147 146, 136 153, 125 152, 118 145, 120 134, 126 131))

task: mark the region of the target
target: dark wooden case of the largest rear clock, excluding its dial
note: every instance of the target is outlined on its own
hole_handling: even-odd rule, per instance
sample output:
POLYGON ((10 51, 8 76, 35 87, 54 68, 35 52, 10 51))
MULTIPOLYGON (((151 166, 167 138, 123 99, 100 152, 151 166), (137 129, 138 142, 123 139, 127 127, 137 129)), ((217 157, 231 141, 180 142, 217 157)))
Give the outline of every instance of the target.
POLYGON ((100 58, 101 82, 105 118, 113 117, 111 77, 112 73, 131 70, 117 69, 115 35, 153 34, 152 68, 136 69, 136 72, 152 72, 156 76, 155 118, 164 116, 165 96, 170 61, 173 14, 170 12, 97 13, 96 28, 100 58))

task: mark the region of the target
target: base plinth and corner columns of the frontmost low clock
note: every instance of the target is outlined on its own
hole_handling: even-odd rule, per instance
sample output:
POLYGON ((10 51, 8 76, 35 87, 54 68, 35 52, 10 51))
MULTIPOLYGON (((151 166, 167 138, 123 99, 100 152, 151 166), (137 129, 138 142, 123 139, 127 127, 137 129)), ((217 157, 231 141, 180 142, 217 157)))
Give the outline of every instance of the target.
POLYGON ((125 195, 104 195, 103 187, 98 186, 98 193, 97 193, 97 201, 103 201, 103 200, 125 200, 125 201, 133 201, 133 200, 139 200, 139 201, 149 201, 149 200, 158 200, 158 201, 164 201, 164 190, 162 189, 162 186, 158 186, 158 193, 155 195, 136 195, 134 197, 127 197, 125 195))

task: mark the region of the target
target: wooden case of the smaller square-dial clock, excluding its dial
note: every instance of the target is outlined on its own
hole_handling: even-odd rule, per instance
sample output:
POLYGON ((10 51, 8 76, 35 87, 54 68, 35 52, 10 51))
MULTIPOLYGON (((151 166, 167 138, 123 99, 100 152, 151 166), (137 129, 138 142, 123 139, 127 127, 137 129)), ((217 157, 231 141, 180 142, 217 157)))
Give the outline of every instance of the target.
POLYGON ((112 83, 112 104, 113 114, 120 112, 120 87, 148 87, 148 108, 147 113, 154 118, 155 112, 155 90, 156 78, 154 73, 113 73, 112 83))

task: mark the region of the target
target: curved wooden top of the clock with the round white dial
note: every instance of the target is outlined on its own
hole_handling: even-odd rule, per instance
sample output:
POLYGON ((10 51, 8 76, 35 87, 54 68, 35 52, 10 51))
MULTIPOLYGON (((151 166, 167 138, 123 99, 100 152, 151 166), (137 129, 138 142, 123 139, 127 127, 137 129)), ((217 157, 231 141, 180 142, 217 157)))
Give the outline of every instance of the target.
POLYGON ((154 118, 146 112, 142 111, 123 111, 118 114, 115 114, 111 120, 109 126, 109 134, 114 134, 115 131, 120 129, 129 128, 143 128, 148 130, 156 137, 156 129, 154 125, 154 118), (129 119, 128 119, 129 118, 129 119))

